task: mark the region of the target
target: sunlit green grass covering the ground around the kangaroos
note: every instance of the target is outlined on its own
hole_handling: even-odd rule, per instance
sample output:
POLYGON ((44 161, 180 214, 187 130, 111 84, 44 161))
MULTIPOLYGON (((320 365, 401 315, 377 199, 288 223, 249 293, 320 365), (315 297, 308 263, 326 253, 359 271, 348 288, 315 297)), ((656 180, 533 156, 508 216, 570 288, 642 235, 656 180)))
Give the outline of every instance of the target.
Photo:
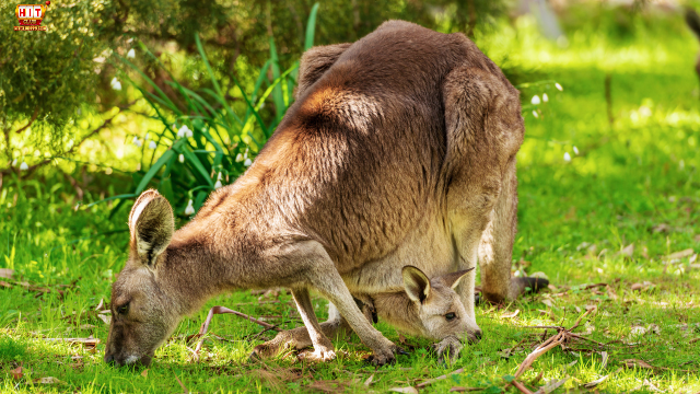
MULTIPOLYGON (((269 333, 256 336, 260 327, 232 315, 217 315, 210 326, 210 333, 226 340, 209 336, 202 359, 190 362, 187 347, 195 344, 187 344, 186 336, 198 331, 212 305, 271 316, 268 321, 285 328, 300 324, 289 294, 258 301, 259 294, 236 292, 211 300, 186 318, 144 375, 141 370, 109 368, 102 362, 107 326, 94 309, 101 299, 109 299, 109 285, 126 259, 127 233, 112 232, 126 228, 127 209, 112 220, 105 206, 74 211, 69 185, 5 177, 0 190, 0 267, 15 273, 12 280, 0 280, 26 281, 50 292, 0 286, 0 391, 179 392, 179 379, 192 392, 365 392, 363 382, 373 375, 371 390, 386 392, 464 368, 422 391, 465 386, 498 393, 542 340, 542 329, 525 326, 569 327, 586 306, 595 305, 574 333, 609 344, 605 368, 594 346, 574 343, 567 351, 555 348, 540 357, 523 382, 541 373, 538 384, 530 385, 536 389, 570 376, 558 392, 585 392, 583 384, 607 375, 596 387, 600 392, 653 392, 653 386, 698 392, 700 341, 691 341, 700 338, 700 269, 691 268, 688 257, 674 264, 663 259, 687 248, 700 252, 697 43, 678 18, 634 23, 631 35, 615 39, 586 25, 570 35, 567 49, 539 38, 527 21, 520 22, 517 32, 504 27, 480 38, 497 62, 564 88, 558 92, 550 83, 522 89, 524 103, 542 92, 550 100, 537 106, 539 118, 532 115, 534 108, 525 114, 513 254, 514 270, 545 273, 557 290, 509 305, 477 306, 483 339, 465 347, 454 364, 442 364, 427 350, 428 341, 412 337, 407 339, 416 346, 411 356, 376 370, 362 361, 369 350, 357 337, 335 341, 343 351, 332 362, 280 357, 252 363, 248 354, 269 333), (604 94, 608 73, 612 125, 604 94), (564 152, 571 162, 563 160, 564 152), (630 244, 631 256, 619 253, 630 244), (611 290, 581 289, 597 282, 611 290), (643 290, 632 291, 633 283, 644 282, 643 290), (515 317, 506 317, 516 310, 515 317), (46 340, 89 335, 103 340, 96 352, 46 340), (508 358, 505 349, 512 349, 508 358), (628 359, 654 369, 627 368, 628 359), (26 372, 16 380, 11 370, 20 364, 26 372), (34 383, 47 376, 61 382, 34 383)), ((526 81, 527 74, 518 82, 526 81)), ((88 193, 85 202, 96 199, 88 193)), ((315 302, 324 318, 325 302, 315 302)), ((392 327, 380 322, 378 328, 399 341, 392 327)), ((552 334, 550 329, 548 336, 552 334)), ((516 392, 512 386, 505 391, 516 392)))

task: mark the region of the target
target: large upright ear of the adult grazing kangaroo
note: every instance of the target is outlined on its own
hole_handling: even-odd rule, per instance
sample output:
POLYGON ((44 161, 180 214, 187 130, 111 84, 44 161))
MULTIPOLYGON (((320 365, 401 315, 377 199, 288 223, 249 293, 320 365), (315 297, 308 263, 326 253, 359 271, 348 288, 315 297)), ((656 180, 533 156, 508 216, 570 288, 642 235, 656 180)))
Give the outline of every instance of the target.
POLYGON ((143 192, 131 208, 129 230, 139 259, 153 268, 175 231, 173 208, 167 199, 155 190, 143 192))

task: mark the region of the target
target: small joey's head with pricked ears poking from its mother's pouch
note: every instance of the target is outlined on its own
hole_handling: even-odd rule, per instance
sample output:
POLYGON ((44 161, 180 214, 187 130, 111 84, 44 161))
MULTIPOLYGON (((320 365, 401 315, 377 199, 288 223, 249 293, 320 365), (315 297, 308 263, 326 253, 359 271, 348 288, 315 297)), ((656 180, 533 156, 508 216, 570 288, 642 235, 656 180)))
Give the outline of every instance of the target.
POLYGON ((418 318, 411 322, 415 334, 442 340, 447 336, 462 337, 465 334, 470 340, 480 333, 472 333, 469 316, 455 288, 462 278, 474 268, 452 273, 429 279, 423 271, 405 266, 402 269, 406 294, 413 302, 418 318))

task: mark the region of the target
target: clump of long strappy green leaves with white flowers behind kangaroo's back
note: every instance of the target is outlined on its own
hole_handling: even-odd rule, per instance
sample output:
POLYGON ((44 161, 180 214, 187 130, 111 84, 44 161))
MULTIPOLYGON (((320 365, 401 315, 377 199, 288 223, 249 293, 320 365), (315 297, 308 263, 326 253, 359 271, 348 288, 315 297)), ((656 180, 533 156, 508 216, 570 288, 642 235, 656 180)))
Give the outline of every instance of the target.
MULTIPOLYGON (((313 45, 317 10, 318 4, 312 9, 307 22, 305 48, 313 45)), ((145 81, 147 86, 138 85, 138 82, 133 82, 133 85, 154 109, 154 118, 160 120, 162 130, 133 136, 133 143, 143 148, 148 144, 154 150, 154 163, 148 171, 135 174, 133 193, 105 199, 120 199, 115 211, 127 199, 137 197, 149 185, 153 185, 176 207, 176 213, 192 215, 203 205, 209 193, 233 182, 250 165, 253 157, 272 135, 293 102, 292 92, 296 83, 299 61, 281 71, 272 39, 269 43, 270 59, 258 72, 250 94, 245 92, 233 76, 230 78, 233 79, 235 89, 232 92, 222 90, 198 36, 195 37, 195 43, 213 89, 205 88, 197 93, 178 83, 175 78, 168 81, 168 85, 182 99, 180 102, 186 103, 185 111, 144 72, 127 58, 121 58, 125 65, 136 70, 145 81), (273 81, 262 91, 268 71, 273 81), (241 99, 244 105, 231 105, 226 100, 229 95, 241 99), (268 101, 272 102, 273 111, 264 113, 262 108, 268 101), (269 120, 266 121, 266 118, 269 120)), ((141 46, 144 53, 160 63, 144 45, 141 46)), ((160 66, 165 69, 164 65, 160 66)))

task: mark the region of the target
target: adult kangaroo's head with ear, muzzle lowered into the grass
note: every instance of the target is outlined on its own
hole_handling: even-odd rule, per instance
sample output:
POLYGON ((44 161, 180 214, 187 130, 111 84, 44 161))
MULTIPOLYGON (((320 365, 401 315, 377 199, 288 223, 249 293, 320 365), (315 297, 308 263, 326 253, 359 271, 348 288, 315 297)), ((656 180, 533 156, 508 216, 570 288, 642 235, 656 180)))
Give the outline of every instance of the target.
POLYGON ((155 190, 143 193, 129 215, 129 259, 112 287, 112 323, 105 362, 151 362, 179 314, 159 280, 174 232, 173 209, 155 190))

